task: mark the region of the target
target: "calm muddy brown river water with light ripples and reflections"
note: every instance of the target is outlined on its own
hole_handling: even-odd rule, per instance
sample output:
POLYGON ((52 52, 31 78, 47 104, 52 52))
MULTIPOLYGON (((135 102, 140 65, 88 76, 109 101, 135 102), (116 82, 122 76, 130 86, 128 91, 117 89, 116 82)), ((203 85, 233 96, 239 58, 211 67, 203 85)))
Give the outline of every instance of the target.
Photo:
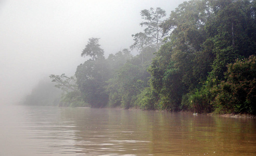
POLYGON ((14 106, 0 155, 254 155, 256 120, 156 111, 14 106))

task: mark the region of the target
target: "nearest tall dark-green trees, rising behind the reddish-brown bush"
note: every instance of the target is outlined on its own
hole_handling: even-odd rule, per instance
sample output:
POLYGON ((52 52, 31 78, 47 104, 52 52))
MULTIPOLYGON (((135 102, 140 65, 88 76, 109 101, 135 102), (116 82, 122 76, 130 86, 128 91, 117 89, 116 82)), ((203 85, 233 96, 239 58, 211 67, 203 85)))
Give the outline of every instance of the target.
MULTIPOLYGON (((155 94, 159 97, 157 108, 202 113, 211 112, 214 107, 220 112, 226 109, 235 113, 253 113, 255 102, 249 99, 255 93, 248 93, 253 89, 252 85, 240 88, 244 89, 244 96, 249 94, 249 99, 238 94, 237 98, 242 98, 239 104, 234 103, 237 100, 235 94, 229 94, 227 99, 225 96, 228 95, 220 89, 224 84, 226 88, 229 82, 225 76, 227 64, 255 54, 255 1, 184 2, 171 12, 170 18, 162 23, 162 28, 164 33, 170 35, 167 35, 167 42, 148 69, 151 90, 156 90, 155 94), (226 98, 225 101, 221 97, 226 98), (250 106, 245 104, 247 101, 250 106), (226 105, 232 107, 227 108, 226 105), (234 105, 237 108, 232 110, 234 105)), ((252 73, 246 74, 252 76, 252 73)), ((249 81, 247 77, 242 78, 241 84, 249 81)), ((239 83, 233 83, 233 87, 239 83)))

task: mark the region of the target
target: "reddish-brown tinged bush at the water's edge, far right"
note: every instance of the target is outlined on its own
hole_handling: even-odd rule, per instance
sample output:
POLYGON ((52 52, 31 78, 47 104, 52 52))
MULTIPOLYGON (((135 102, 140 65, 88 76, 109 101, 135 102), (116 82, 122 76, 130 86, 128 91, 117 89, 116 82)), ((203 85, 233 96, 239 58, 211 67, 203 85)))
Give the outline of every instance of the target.
POLYGON ((228 64, 213 102, 217 112, 256 113, 256 57, 228 64))

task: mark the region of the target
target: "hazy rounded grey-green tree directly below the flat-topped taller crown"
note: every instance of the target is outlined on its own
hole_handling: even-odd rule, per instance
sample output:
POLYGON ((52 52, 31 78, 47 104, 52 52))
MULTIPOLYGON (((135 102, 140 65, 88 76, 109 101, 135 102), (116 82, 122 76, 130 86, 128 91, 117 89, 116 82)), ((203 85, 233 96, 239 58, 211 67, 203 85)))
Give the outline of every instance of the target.
POLYGON ((106 59, 87 60, 76 69, 78 88, 83 99, 93 108, 105 107, 108 95, 105 92, 106 81, 110 78, 109 66, 106 59))

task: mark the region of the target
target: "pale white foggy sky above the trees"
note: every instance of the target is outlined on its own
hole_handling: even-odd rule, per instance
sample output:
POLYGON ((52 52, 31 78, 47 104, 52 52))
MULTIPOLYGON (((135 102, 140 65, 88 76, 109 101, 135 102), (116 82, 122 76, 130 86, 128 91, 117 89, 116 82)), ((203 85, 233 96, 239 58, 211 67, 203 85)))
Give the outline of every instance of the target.
POLYGON ((105 56, 133 44, 140 10, 171 10, 184 0, 0 0, 0 105, 14 103, 50 74, 71 76, 88 38, 105 56))

